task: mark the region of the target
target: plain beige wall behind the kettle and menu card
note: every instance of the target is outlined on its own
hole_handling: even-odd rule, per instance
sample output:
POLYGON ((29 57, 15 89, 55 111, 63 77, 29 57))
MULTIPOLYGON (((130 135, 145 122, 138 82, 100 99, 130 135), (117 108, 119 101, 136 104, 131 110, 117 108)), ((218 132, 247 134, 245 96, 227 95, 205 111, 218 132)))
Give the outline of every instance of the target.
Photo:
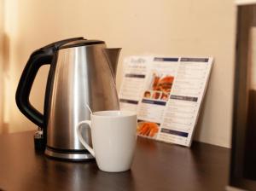
MULTIPOLYGON (((15 89, 32 50, 61 38, 84 36, 123 48, 118 87, 121 61, 127 55, 212 55, 215 63, 195 139, 230 147, 233 0, 6 0, 5 20, 9 62, 4 117, 9 132, 35 129, 15 106, 15 89)), ((32 103, 41 110, 47 70, 41 70, 32 90, 32 103)))

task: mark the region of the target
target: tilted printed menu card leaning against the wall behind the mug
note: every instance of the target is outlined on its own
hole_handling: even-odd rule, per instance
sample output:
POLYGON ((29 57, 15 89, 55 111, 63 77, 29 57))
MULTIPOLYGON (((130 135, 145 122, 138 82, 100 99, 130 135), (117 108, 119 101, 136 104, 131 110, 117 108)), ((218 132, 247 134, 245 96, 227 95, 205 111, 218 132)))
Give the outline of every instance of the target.
POLYGON ((121 110, 137 112, 137 135, 190 147, 212 61, 127 57, 119 102, 121 110))

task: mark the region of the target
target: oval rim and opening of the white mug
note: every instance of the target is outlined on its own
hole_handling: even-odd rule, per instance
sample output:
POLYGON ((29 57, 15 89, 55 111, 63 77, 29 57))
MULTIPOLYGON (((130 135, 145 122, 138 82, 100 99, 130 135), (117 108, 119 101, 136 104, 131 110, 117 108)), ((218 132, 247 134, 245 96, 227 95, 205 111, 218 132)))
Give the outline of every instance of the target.
POLYGON ((91 117, 96 117, 96 118, 127 118, 127 117, 135 117, 137 116, 137 113, 131 112, 131 111, 121 111, 121 110, 104 110, 104 111, 91 113, 90 115, 91 117))

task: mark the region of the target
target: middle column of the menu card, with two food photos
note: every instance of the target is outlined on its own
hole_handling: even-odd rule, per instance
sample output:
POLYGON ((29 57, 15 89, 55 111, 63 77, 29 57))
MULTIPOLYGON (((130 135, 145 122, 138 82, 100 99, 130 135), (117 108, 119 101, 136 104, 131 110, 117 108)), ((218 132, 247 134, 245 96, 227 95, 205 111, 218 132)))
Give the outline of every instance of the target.
POLYGON ((138 135, 156 138, 176 76, 178 58, 153 59, 142 99, 138 104, 138 135))

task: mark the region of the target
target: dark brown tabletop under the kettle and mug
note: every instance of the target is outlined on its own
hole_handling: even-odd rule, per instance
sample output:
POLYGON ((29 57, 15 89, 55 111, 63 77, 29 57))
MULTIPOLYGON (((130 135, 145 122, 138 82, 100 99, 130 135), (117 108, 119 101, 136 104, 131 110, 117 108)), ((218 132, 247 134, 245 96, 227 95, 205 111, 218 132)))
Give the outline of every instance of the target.
POLYGON ((230 149, 194 142, 183 148, 137 139, 131 171, 107 173, 95 161, 67 162, 36 153, 33 131, 0 136, 0 189, 219 191, 229 177, 230 149))

